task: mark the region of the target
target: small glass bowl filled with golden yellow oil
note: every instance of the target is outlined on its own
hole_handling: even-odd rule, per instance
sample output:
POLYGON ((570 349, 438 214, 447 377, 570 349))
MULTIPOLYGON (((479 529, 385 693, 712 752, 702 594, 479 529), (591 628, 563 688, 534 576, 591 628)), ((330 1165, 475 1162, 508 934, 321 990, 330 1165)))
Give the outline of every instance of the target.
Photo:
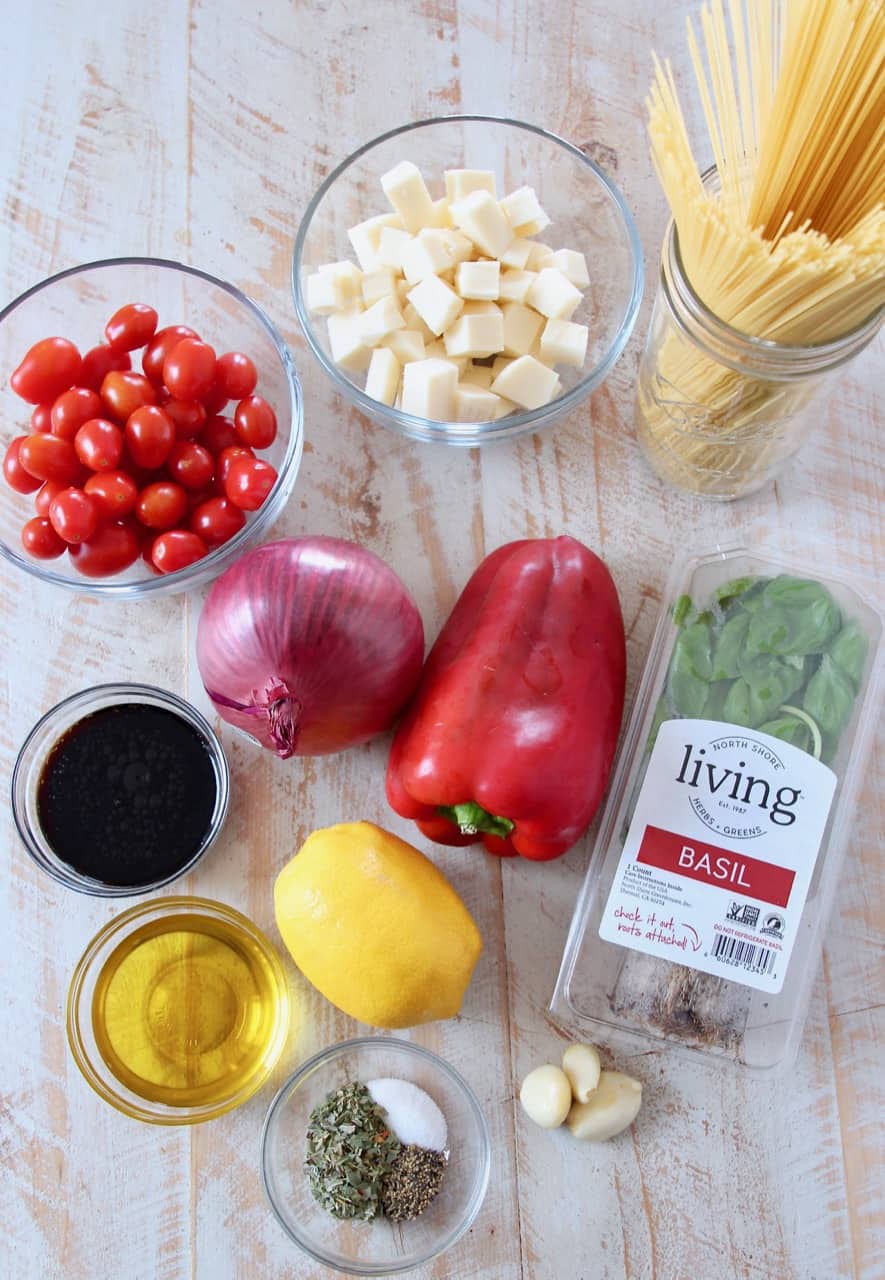
POLYGON ((104 925, 68 992, 86 1082, 150 1124, 211 1120, 265 1083, 289 1027, 286 973, 240 911, 202 897, 138 902, 104 925))

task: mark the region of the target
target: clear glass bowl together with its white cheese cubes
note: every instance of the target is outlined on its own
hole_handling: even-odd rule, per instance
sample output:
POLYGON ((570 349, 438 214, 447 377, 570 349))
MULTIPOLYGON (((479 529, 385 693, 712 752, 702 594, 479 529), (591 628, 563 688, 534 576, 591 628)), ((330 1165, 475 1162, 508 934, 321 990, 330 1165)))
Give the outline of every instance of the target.
POLYGON ((497 116, 420 120, 329 174, 298 229, 310 347, 359 410, 474 445, 575 410, 642 298, 622 195, 579 147, 497 116))

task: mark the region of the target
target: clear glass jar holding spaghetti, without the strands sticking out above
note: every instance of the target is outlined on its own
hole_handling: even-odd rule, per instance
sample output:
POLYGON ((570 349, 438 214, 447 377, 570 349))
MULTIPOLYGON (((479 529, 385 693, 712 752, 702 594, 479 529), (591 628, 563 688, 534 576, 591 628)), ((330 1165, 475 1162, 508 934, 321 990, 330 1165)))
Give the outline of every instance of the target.
MULTIPOLYGON (((715 189, 715 170, 704 174, 715 189)), ((657 474, 727 502, 777 475, 812 429, 835 371, 875 338, 885 308, 840 338, 793 347, 715 316, 688 280, 671 221, 637 387, 637 429, 657 474)))

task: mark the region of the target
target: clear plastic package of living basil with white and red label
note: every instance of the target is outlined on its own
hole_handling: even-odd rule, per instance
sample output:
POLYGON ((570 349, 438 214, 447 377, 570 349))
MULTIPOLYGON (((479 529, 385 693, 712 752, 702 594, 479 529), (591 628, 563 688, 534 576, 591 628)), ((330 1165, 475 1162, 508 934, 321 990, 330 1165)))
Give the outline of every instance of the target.
POLYGON ((818 564, 674 570, 551 1001, 571 1033, 795 1059, 879 723, 882 620, 818 564))

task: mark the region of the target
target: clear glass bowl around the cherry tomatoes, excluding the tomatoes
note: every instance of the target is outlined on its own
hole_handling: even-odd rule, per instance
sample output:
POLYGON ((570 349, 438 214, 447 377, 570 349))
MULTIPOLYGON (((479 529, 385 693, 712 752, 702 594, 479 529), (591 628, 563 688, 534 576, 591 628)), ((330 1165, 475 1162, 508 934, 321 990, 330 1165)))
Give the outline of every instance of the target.
MULTIPOLYGON (((159 312, 160 328, 187 324, 219 355, 243 351, 252 358, 259 374, 257 390, 277 412, 277 439, 261 451, 261 457, 273 463, 278 479, 243 529, 195 564, 158 576, 140 557, 123 573, 108 579, 85 577, 67 556, 56 561, 32 559, 22 548, 20 530, 33 516, 33 494, 15 493, 0 483, 0 556, 54 586, 126 600, 184 591, 207 582, 266 534, 292 493, 304 443, 298 375, 286 343, 264 311, 240 289, 205 271, 161 259, 118 257, 53 275, 0 311, 4 448, 12 438, 31 430, 31 406, 10 390, 9 375, 32 343, 58 334, 86 352, 104 340, 104 326, 113 312, 134 301, 147 302, 159 312)), ((133 369, 141 370, 138 352, 133 355, 133 369)))

